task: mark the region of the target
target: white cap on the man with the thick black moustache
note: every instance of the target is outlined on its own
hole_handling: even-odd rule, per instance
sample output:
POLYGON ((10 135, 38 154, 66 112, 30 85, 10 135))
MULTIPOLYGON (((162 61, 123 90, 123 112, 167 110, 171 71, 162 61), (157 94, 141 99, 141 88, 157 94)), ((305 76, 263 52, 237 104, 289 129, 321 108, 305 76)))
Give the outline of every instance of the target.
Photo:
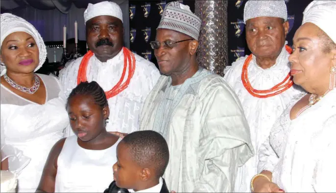
POLYGON ((97 16, 113 16, 120 19, 122 22, 120 6, 115 2, 102 1, 96 4, 89 3, 88 8, 84 12, 85 23, 97 16))

